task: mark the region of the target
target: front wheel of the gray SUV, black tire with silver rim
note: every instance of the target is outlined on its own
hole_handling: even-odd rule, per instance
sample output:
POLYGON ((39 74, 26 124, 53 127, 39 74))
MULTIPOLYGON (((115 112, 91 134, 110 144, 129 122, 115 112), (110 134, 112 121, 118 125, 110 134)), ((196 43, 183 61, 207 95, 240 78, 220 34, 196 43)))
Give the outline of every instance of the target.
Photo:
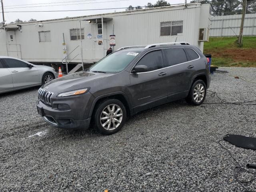
POLYGON ((96 107, 94 123, 97 132, 104 135, 114 134, 124 126, 125 122, 126 109, 120 100, 104 100, 96 107))

